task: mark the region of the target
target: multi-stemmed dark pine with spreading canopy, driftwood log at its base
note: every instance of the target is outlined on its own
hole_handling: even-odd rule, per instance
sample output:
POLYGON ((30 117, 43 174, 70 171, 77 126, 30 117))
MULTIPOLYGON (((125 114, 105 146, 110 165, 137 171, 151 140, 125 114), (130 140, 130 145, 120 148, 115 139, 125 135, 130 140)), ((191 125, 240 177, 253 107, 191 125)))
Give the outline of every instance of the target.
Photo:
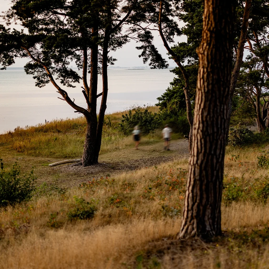
MULTIPOLYGON (((27 58, 27 74, 36 79, 36 86, 52 83, 58 97, 86 118, 87 128, 82 165, 98 162, 108 94, 107 66, 115 59, 108 55, 128 41, 122 27, 130 21, 139 22, 144 0, 13 0, 12 8, 3 16, 7 23, 20 21, 23 31, 0 25, 1 69, 12 65, 15 58, 27 58), (69 68, 72 61, 82 75, 69 68), (101 71, 102 70, 102 71, 101 71), (97 93, 98 73, 102 72, 103 91, 97 93), (89 76, 90 73, 90 76, 89 76), (90 77, 90 78, 89 78, 90 77), (82 82, 86 107, 76 104, 65 87, 82 82), (102 96, 97 118, 97 98, 102 96)), ((150 2, 150 1, 146 1, 150 2)), ((140 41, 157 57, 158 67, 164 59, 151 44, 152 37, 140 35, 140 41)))

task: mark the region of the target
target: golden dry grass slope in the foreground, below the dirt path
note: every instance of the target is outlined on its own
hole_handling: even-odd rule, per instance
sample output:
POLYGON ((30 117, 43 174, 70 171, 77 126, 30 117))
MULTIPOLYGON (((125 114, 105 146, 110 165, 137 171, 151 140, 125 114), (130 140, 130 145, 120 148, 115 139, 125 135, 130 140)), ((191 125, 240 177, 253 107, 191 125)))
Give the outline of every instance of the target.
MULTIPOLYGON (((225 173, 253 185, 268 174, 256 157, 228 149, 225 173)), ((268 268, 269 205, 252 198, 222 206, 224 237, 175 240, 186 169, 187 160, 178 160, 0 211, 0 268, 268 268), (98 200, 92 220, 68 221, 73 196, 98 200)))

